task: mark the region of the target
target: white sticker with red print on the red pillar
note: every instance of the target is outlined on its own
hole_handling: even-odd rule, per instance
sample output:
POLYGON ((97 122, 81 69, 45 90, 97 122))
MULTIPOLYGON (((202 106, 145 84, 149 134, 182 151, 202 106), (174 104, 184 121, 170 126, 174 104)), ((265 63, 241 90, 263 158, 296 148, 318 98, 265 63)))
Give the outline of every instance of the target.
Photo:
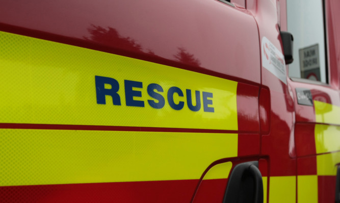
POLYGON ((266 37, 262 38, 262 64, 284 84, 287 84, 283 54, 266 37))

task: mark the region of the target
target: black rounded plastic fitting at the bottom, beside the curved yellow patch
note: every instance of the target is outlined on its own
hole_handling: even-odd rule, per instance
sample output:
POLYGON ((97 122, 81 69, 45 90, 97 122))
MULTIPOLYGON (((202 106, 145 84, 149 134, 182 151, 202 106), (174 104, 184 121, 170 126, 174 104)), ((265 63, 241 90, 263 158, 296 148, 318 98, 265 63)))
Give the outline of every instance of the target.
POLYGON ((263 181, 257 161, 241 163, 234 167, 229 176, 223 202, 263 203, 263 181))

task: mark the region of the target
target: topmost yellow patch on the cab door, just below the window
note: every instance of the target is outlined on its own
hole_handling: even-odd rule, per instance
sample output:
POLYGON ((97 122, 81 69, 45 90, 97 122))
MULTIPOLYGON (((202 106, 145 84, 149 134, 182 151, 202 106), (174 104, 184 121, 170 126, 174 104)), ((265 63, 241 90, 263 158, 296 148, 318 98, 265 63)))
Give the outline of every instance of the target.
POLYGON ((340 107, 314 100, 316 121, 340 125, 340 107))

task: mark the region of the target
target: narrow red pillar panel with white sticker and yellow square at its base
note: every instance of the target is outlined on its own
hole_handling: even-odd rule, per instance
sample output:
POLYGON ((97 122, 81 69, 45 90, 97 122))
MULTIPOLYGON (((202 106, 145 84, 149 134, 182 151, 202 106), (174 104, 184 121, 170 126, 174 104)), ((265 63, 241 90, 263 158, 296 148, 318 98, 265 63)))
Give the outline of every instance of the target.
POLYGON ((259 29, 261 81, 265 90, 263 95, 270 100, 269 110, 264 108, 269 112, 260 111, 261 118, 269 118, 268 124, 261 125, 269 128, 261 135, 261 155, 268 156, 270 160, 267 200, 295 202, 294 103, 287 86, 278 27, 279 4, 280 1, 247 1, 247 7, 254 15, 259 29))

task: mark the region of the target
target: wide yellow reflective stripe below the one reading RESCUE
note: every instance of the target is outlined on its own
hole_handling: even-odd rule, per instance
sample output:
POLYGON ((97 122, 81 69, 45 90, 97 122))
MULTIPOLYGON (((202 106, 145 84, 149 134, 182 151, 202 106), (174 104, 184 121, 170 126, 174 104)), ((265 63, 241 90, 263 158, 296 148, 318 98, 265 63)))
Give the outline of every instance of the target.
POLYGON ((0 186, 200 179, 237 134, 0 130, 0 186))

